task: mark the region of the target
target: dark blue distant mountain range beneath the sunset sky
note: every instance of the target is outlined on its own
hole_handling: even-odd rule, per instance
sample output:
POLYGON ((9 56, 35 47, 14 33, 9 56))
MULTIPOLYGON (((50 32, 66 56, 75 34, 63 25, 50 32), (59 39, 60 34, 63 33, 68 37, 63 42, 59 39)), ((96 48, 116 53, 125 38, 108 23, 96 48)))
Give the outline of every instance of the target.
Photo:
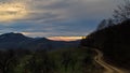
POLYGON ((55 49, 77 47, 79 41, 51 41, 46 38, 28 38, 22 33, 4 33, 0 35, 0 49, 55 49))

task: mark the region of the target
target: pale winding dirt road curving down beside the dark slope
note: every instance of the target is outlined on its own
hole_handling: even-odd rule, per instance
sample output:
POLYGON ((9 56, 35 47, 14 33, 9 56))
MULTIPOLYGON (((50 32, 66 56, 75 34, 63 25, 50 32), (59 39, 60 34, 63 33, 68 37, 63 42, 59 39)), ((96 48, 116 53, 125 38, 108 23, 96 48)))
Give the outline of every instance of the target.
POLYGON ((101 67, 103 67, 105 69, 104 73, 128 73, 121 69, 118 69, 112 64, 106 63, 103 60, 103 53, 100 52, 99 49, 94 49, 94 52, 96 52, 96 56, 94 57, 94 60, 96 63, 99 63, 101 67))

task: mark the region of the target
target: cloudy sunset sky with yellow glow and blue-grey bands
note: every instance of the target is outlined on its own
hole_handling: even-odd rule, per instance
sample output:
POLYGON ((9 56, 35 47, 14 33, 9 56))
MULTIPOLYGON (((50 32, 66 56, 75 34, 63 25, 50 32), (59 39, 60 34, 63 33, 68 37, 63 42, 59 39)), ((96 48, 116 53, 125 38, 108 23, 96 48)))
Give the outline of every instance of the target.
POLYGON ((0 0, 0 33, 83 36, 112 17, 121 0, 0 0))

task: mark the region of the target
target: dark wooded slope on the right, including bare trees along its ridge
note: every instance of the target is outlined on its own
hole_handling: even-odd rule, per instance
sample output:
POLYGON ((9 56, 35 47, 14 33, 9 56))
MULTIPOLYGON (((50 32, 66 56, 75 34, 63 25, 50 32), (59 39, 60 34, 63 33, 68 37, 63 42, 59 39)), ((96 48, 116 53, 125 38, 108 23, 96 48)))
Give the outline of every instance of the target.
POLYGON ((108 63, 130 69, 130 1, 119 5, 113 18, 103 19, 95 31, 81 41, 81 45, 103 52, 108 63))

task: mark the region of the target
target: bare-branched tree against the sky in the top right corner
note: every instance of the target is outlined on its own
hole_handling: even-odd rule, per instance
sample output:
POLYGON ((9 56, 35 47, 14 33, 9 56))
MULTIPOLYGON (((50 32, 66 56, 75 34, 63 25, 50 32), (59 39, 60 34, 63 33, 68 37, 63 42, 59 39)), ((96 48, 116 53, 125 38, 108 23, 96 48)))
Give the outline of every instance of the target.
POLYGON ((117 6, 114 10, 114 19, 115 23, 121 23, 130 18, 130 0, 125 0, 123 4, 117 6))

